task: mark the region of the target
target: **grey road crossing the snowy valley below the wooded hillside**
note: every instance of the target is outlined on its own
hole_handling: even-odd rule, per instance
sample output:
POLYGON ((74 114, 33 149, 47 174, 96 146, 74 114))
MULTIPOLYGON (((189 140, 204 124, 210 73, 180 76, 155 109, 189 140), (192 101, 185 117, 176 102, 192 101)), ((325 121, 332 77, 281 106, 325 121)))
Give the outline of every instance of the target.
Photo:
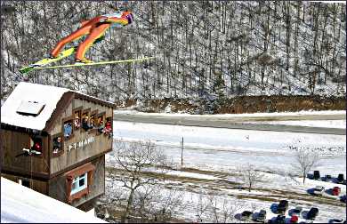
POLYGON ((345 120, 346 115, 300 115, 300 116, 235 116, 235 117, 211 117, 211 116, 142 116, 136 114, 117 114, 113 116, 115 121, 149 123, 149 124, 173 124, 184 126, 200 126, 214 128, 229 128, 273 132, 303 132, 319 134, 345 135, 346 130, 340 128, 308 127, 284 124, 243 124, 242 122, 256 121, 295 121, 295 120, 345 120))

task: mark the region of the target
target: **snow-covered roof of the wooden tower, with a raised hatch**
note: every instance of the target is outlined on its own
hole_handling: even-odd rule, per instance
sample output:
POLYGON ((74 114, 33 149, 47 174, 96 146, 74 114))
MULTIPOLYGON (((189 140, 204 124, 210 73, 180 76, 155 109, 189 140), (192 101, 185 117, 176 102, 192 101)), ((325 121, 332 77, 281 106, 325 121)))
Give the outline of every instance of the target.
MULTIPOLYGON (((20 82, 1 107, 1 123, 42 131, 65 92, 76 91, 51 85, 20 82)), ((112 104, 81 92, 77 93, 112 104)))

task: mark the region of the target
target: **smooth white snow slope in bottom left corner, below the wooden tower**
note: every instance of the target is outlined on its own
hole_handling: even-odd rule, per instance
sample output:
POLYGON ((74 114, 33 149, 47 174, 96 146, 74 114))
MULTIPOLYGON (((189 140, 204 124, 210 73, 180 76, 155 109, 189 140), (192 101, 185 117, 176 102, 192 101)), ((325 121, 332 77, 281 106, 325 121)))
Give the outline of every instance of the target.
POLYGON ((105 220, 1 178, 1 222, 107 223, 105 220))

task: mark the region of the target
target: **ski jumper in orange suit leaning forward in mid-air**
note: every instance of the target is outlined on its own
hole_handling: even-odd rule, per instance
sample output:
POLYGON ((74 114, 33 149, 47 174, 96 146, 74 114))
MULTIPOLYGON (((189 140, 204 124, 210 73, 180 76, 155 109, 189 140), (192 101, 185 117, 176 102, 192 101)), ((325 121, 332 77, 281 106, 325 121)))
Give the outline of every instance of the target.
POLYGON ((86 36, 85 40, 78 45, 75 55, 77 63, 91 63, 92 60, 85 59, 85 52, 95 43, 103 39, 105 32, 108 28, 121 28, 133 22, 133 13, 128 11, 116 12, 112 14, 105 14, 94 17, 91 20, 84 20, 81 22, 81 27, 75 32, 61 39, 56 44, 50 54, 50 58, 57 58, 61 49, 65 44, 76 41, 82 36, 86 36))

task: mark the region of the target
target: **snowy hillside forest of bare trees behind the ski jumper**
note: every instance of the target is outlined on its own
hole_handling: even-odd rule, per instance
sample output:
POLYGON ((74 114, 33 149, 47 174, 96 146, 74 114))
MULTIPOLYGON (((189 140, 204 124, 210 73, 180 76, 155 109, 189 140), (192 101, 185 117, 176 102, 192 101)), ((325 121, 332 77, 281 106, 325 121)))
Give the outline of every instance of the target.
MULTIPOLYGON (((344 95, 345 4, 313 2, 2 2, 1 99, 26 80, 105 100, 213 95, 344 95), (40 60, 81 20, 132 10, 91 60, 156 59, 103 67, 18 69, 40 60)), ((73 59, 63 60, 70 63, 73 59)))

